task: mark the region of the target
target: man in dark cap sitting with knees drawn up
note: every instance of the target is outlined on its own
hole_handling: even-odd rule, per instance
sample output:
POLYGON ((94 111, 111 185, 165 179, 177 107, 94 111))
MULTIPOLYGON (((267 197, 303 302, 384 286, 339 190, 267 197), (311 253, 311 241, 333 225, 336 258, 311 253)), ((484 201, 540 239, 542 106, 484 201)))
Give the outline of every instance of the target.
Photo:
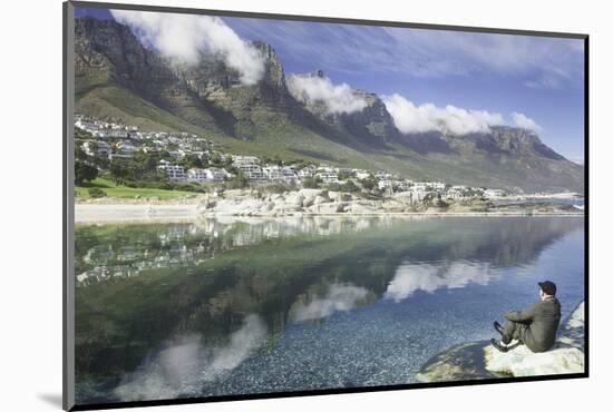
MULTIPOLYGON (((503 327, 497 321, 494 328, 503 335, 500 341, 492 340, 492 345, 500 352, 507 352, 513 340, 525 344, 532 352, 545 352, 555 343, 560 325, 560 302, 555 297, 556 286, 553 282, 539 282, 541 301, 523 311, 510 311, 505 317, 503 327)), ((513 346, 515 347, 515 345, 513 346)))

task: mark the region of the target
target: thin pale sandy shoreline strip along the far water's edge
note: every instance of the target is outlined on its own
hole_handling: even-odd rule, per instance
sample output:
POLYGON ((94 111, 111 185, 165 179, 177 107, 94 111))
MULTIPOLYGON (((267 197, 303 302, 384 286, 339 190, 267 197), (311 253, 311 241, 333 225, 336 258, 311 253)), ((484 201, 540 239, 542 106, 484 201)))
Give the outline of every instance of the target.
POLYGON ((368 213, 220 213, 198 209, 197 203, 76 203, 75 223, 186 222, 198 218, 255 217, 584 217, 567 212, 368 212, 368 213))

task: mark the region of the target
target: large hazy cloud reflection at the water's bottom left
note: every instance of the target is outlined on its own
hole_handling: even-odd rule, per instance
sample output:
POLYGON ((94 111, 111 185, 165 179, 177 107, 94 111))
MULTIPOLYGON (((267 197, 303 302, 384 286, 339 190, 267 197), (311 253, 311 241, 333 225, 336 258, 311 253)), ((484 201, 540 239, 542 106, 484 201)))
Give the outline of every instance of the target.
POLYGON ((252 314, 223 346, 207 346, 200 335, 183 336, 124 377, 115 394, 124 402, 195 395, 203 384, 239 366, 264 343, 266 333, 262 318, 252 314))

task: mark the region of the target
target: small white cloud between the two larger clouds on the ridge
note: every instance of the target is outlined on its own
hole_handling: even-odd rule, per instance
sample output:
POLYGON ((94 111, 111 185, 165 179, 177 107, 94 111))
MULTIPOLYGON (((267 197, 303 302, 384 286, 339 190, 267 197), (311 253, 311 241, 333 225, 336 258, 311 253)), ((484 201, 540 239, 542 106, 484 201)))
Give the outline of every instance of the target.
POLYGON ((334 85, 327 77, 292 75, 288 77, 288 87, 299 100, 322 102, 330 114, 350 114, 367 106, 348 84, 334 85))

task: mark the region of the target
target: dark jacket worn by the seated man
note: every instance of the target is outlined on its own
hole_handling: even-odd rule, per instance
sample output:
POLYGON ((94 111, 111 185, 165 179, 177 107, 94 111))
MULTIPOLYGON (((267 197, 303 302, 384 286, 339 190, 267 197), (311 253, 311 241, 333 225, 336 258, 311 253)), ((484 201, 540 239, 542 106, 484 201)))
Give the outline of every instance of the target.
POLYGON ((523 311, 510 311, 505 317, 526 327, 522 331, 522 341, 533 352, 545 352, 555 343, 560 325, 560 302, 547 297, 523 311))

